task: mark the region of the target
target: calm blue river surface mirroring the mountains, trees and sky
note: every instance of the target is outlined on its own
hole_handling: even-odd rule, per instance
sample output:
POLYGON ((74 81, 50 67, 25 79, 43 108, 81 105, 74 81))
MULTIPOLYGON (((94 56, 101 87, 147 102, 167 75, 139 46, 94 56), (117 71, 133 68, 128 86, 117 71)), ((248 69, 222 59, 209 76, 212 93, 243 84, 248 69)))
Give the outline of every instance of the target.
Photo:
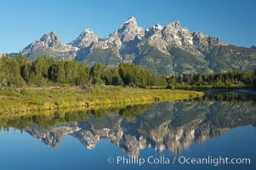
POLYGON ((0 118, 0 169, 256 169, 256 94, 0 118))

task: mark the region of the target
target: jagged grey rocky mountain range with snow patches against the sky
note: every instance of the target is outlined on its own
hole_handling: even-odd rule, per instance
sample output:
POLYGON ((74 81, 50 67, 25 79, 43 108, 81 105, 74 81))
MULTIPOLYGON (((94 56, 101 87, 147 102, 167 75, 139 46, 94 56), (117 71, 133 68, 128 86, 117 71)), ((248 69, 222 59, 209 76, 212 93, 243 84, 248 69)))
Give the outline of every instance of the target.
POLYGON ((178 20, 167 26, 156 24, 143 29, 134 17, 104 38, 85 29, 76 40, 65 43, 50 31, 31 42, 22 54, 32 60, 45 54, 54 59, 87 62, 90 66, 96 62, 104 65, 134 63, 166 75, 256 69, 255 46, 230 45, 219 37, 189 31, 178 20))

